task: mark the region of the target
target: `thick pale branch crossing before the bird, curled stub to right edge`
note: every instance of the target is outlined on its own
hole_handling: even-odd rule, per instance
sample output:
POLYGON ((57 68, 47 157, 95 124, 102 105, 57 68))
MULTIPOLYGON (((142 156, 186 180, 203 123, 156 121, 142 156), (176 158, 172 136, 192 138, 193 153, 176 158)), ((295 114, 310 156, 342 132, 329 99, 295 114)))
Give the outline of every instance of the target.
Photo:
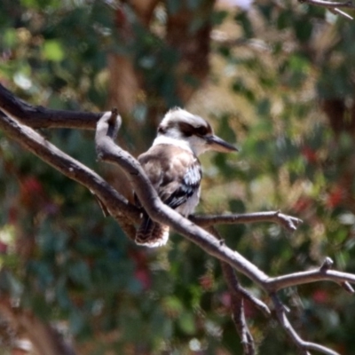
MULTIPOLYGON (((114 134, 116 134, 117 129, 109 127, 109 117, 110 114, 103 115, 98 123, 96 144, 99 157, 106 162, 119 165, 126 172, 135 192, 138 194, 139 201, 142 202, 146 212, 154 221, 170 225, 177 233, 185 235, 186 238, 199 245, 211 256, 216 256, 219 260, 232 265, 269 292, 318 280, 355 283, 354 274, 335 271, 320 272, 319 269, 269 278, 238 252, 226 247, 223 242, 217 241, 216 238, 206 233, 199 226, 193 225, 191 221, 162 203, 139 163, 130 154, 114 144, 112 138, 115 138, 114 134)), ((277 220, 278 216, 280 216, 279 212, 273 212, 273 218, 277 220)))

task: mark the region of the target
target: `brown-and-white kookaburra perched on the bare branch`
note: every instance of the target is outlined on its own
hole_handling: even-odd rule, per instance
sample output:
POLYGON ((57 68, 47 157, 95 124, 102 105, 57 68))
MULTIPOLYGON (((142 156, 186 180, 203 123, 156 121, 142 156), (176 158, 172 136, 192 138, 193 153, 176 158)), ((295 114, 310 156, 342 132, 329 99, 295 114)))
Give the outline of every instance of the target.
MULTIPOLYGON (((214 135, 209 122, 181 108, 173 108, 162 119, 149 150, 138 156, 143 170, 162 202, 187 217, 200 200, 201 162, 206 151, 229 153, 237 148, 214 135)), ((160 247, 169 239, 169 226, 155 223, 143 212, 136 242, 160 247)))

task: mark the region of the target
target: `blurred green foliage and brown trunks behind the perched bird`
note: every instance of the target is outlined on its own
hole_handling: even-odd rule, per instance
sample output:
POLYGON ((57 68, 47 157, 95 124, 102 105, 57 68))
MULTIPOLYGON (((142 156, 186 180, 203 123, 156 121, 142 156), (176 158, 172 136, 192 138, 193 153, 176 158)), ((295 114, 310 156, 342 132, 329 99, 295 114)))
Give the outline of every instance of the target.
MULTIPOLYGON (((199 213, 304 220, 293 234, 220 226, 228 246, 272 276, 325 256, 355 272, 354 40, 354 21, 296 0, 2 0, 0 83, 34 105, 118 107, 119 143, 135 156, 185 106, 241 149, 202 156, 199 213)), ((122 172, 96 162, 92 131, 41 132, 130 198, 122 172)), ((17 310, 0 315, 0 354, 43 355, 19 314, 56 327, 78 354, 242 353, 220 266, 200 248, 178 235, 138 248, 89 191, 2 132, 0 186, 0 308, 17 310)), ((343 288, 280 296, 305 339, 355 354, 343 288)), ((275 320, 248 303, 246 313, 260 354, 296 354, 275 320)))

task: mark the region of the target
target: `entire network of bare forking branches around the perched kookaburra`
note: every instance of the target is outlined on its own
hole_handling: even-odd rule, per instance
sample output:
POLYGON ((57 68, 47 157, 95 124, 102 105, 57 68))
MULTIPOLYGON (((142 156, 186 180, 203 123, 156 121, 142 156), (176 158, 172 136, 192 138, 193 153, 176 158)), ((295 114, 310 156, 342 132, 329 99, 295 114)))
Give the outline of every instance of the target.
MULTIPOLYGON (((82 115, 47 110, 39 106, 30 106, 20 99, 11 98, 11 96, 12 94, 0 85, 0 107, 1 110, 8 114, 0 114, 0 128, 2 128, 10 138, 18 141, 20 145, 39 156, 44 162, 49 163, 67 177, 89 188, 91 192, 95 193, 99 197, 99 200, 105 204, 106 208, 117 222, 120 225, 126 225, 125 232, 132 236, 135 232, 133 224, 138 223, 139 220, 139 209, 125 200, 122 195, 117 193, 111 185, 108 185, 106 181, 102 177, 99 177, 94 171, 60 151, 36 131, 16 121, 16 119, 19 119, 37 128, 71 127, 92 129, 93 122, 96 122, 98 119, 98 114, 82 115), (35 118, 33 119, 33 117, 35 118), (45 120, 49 122, 44 122, 45 120), (87 122, 83 122, 85 120, 87 120, 87 122), (127 227, 127 225, 129 227, 127 227)), ((198 225, 210 227, 211 225, 223 223, 274 222, 292 232, 296 230, 301 220, 296 217, 281 214, 280 211, 228 216, 194 216, 190 217, 191 220, 182 217, 176 211, 162 203, 139 163, 130 154, 114 144, 114 138, 116 138, 120 126, 121 118, 116 111, 102 114, 97 124, 95 137, 99 158, 103 161, 114 163, 125 171, 128 177, 130 177, 130 183, 135 193, 137 193, 143 207, 154 221, 170 225, 177 233, 184 235, 187 239, 204 249, 209 255, 215 256, 223 262, 225 279, 227 280, 231 292, 236 295, 233 301, 233 312, 237 322, 240 321, 240 326, 238 327, 242 339, 245 341, 245 353, 253 354, 253 340, 248 332, 245 318, 243 318, 243 299, 249 299, 257 308, 266 314, 270 313, 270 311, 263 302, 251 296, 244 288, 241 288, 232 268, 243 273, 250 280, 253 280, 272 297, 282 327, 286 329, 288 335, 290 335, 304 354, 308 354, 309 350, 316 350, 325 354, 335 355, 336 352, 330 351, 321 345, 304 342, 299 335, 296 334, 296 331, 288 322, 285 308, 282 304, 282 307, 280 307, 280 301, 276 296, 276 291, 281 288, 288 288, 313 281, 332 280, 352 293, 354 291, 350 283, 355 283, 355 275, 330 270, 332 263, 329 261, 330 259, 327 259, 315 270, 294 272, 273 278, 269 277, 259 270, 256 265, 250 263, 238 252, 225 246, 223 241, 218 241, 213 235, 207 233, 198 225), (193 222, 198 225, 195 225, 193 222)))

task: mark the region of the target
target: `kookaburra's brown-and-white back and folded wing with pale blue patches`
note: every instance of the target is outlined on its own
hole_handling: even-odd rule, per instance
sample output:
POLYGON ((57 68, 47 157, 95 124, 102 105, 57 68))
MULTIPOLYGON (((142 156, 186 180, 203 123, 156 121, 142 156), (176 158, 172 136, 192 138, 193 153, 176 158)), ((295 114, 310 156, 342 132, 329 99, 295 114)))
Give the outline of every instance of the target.
POLYGON ((176 209, 200 188, 201 163, 177 146, 153 146, 138 161, 162 201, 176 209))

